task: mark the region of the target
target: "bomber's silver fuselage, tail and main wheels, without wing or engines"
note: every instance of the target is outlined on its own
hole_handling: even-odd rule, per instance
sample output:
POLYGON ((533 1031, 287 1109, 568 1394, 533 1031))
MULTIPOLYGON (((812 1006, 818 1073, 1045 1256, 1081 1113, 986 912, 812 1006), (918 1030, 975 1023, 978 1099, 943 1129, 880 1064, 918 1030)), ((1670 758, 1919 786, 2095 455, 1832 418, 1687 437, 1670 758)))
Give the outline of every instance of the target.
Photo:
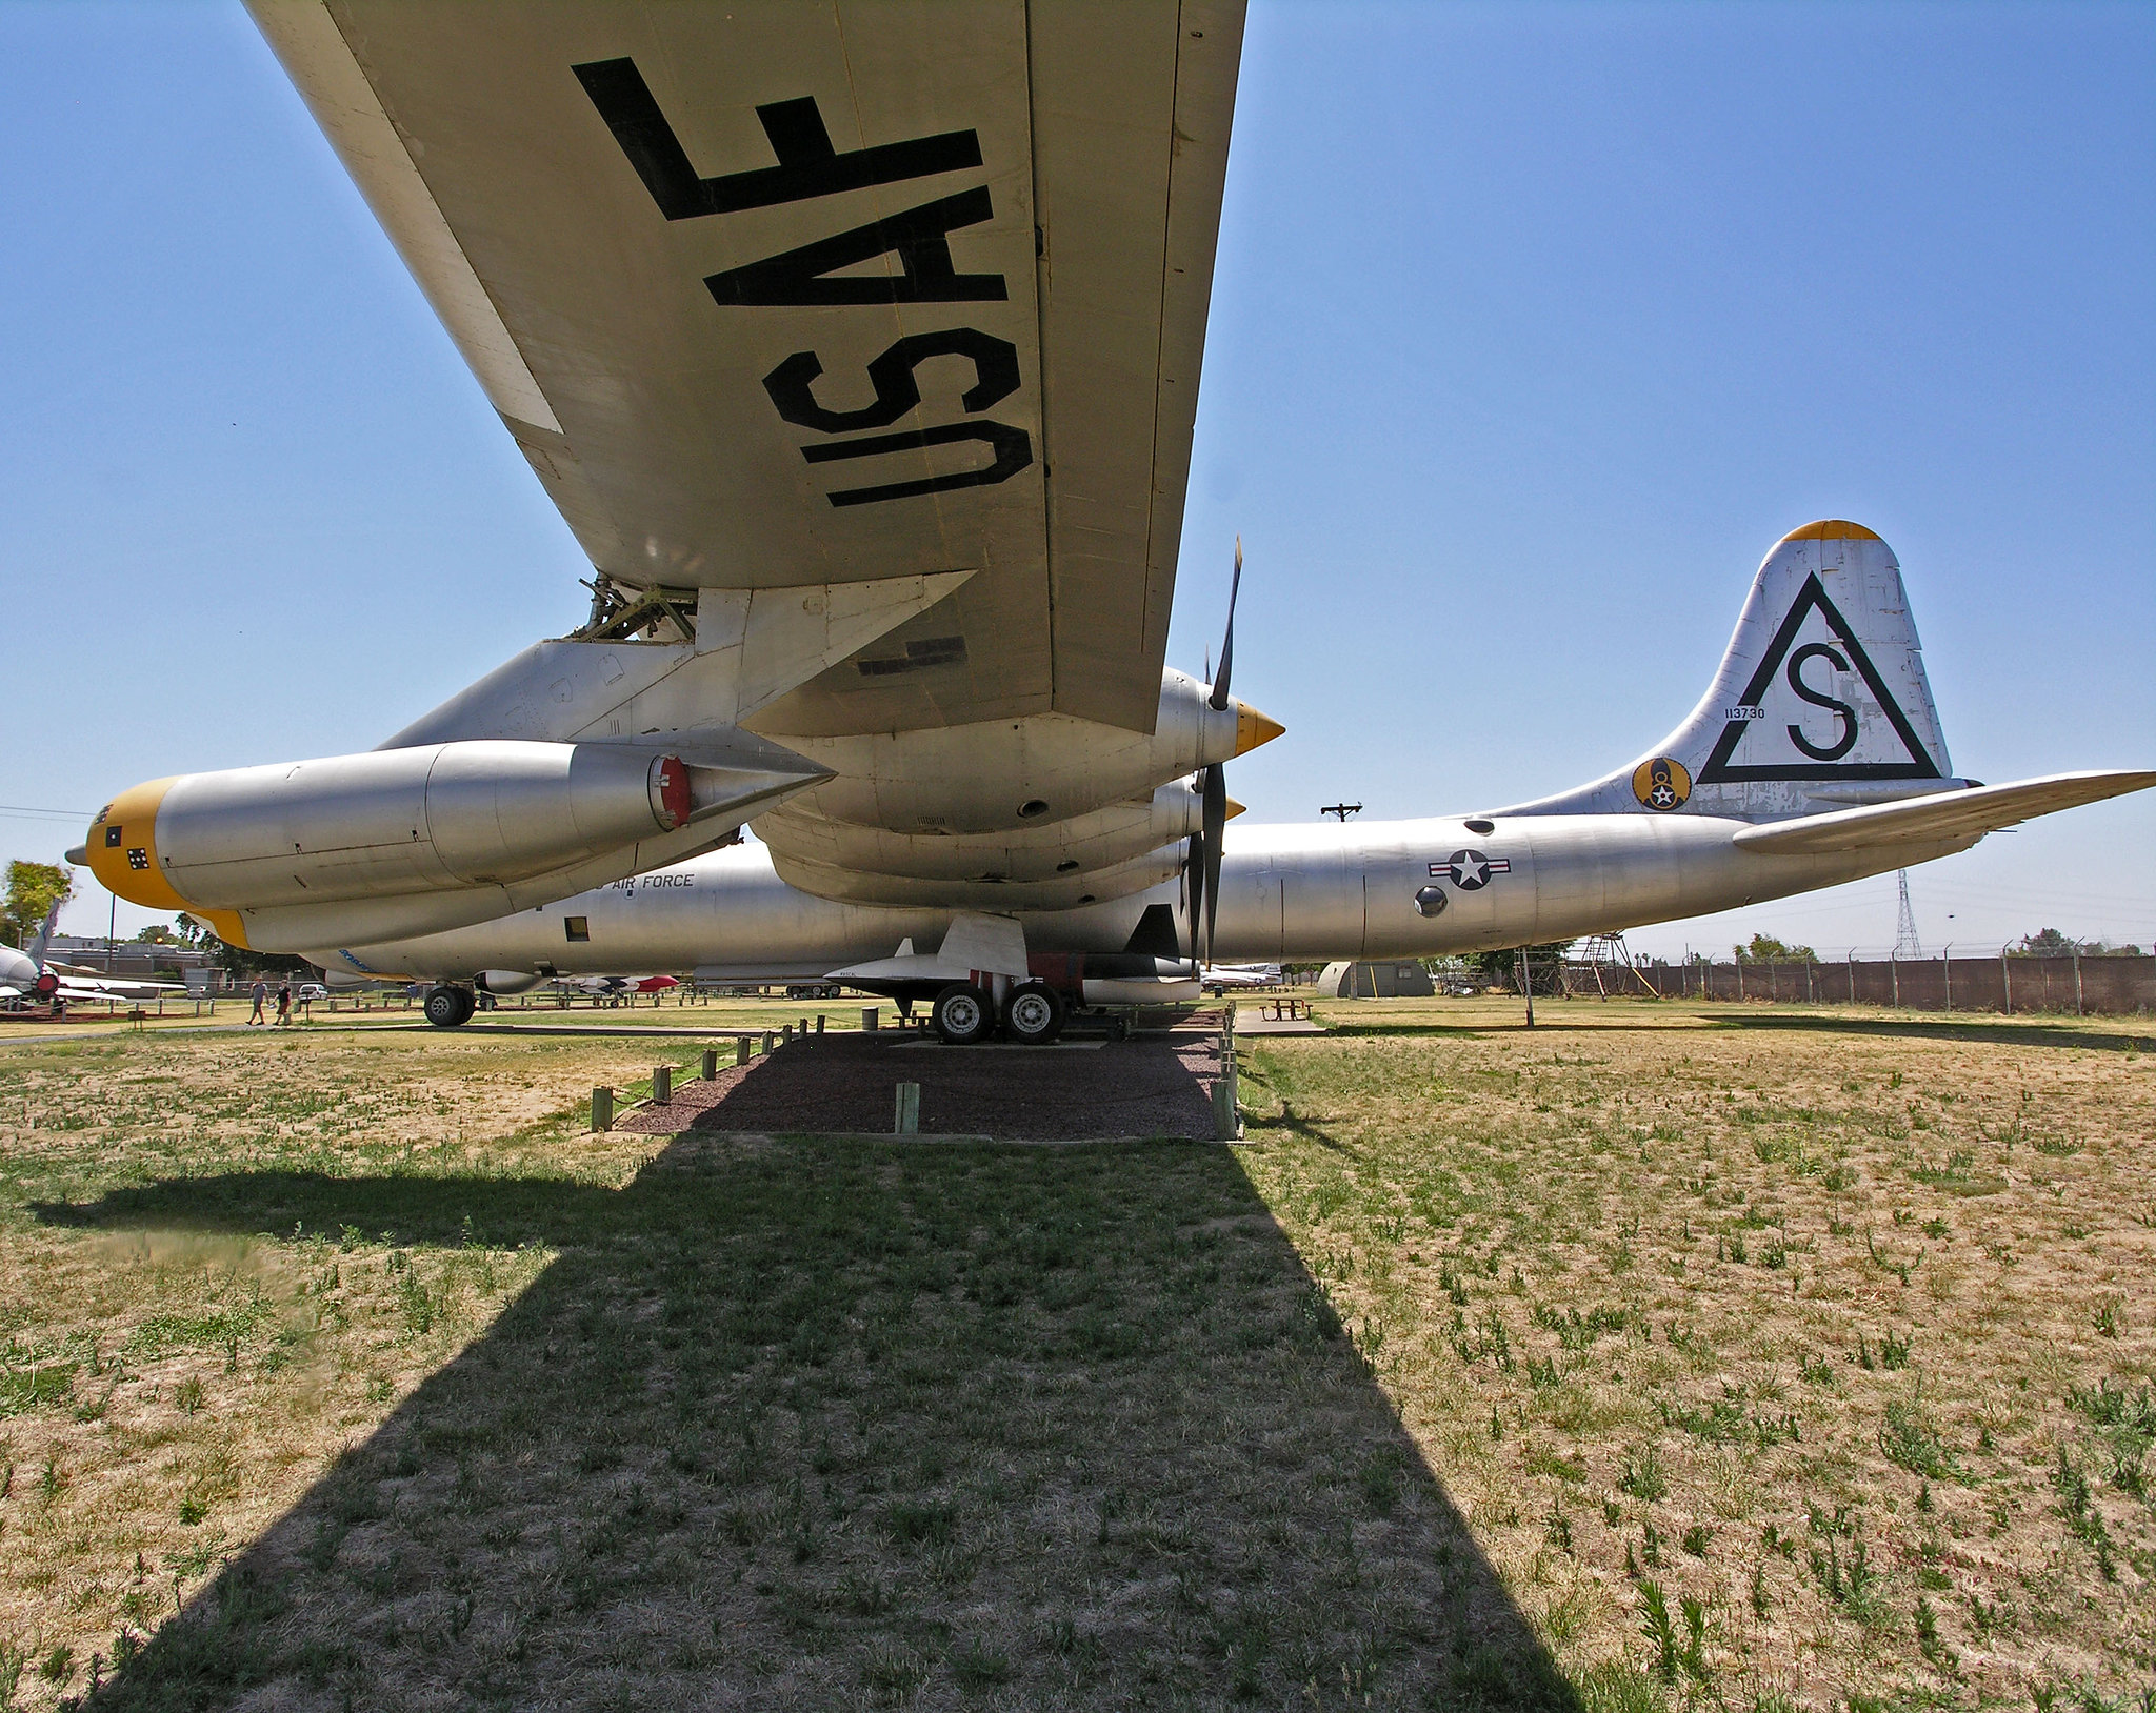
MULTIPOLYGON (((1902 569, 1871 530, 1811 524, 1766 556, 1714 683, 1649 754, 1481 814, 1231 827, 1212 948, 1391 959, 1613 933, 1930 862, 2150 784, 2156 771, 1953 778, 1902 569)), ((776 851, 740 847, 483 927, 310 957, 489 985, 666 959, 720 980, 824 974, 934 998, 946 1039, 972 1039, 998 993, 1007 1015, 1041 995, 1050 1019, 1065 1004, 1197 998, 1177 961, 1190 903, 1164 875, 1076 909, 953 918, 821 899, 789 886, 776 851), (934 957, 912 950, 938 939, 934 957)), ((1005 1030, 1033 1036, 1022 1015, 1005 1030)))

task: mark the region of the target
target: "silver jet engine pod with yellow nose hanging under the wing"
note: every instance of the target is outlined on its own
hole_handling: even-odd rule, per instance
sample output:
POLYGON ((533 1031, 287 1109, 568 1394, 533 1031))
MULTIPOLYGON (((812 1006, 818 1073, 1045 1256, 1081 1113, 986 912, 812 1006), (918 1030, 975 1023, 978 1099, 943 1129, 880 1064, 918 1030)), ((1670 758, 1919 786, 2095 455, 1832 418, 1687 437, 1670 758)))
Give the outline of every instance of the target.
POLYGON ((772 795, 755 784, 621 743, 369 750, 138 784, 91 823, 86 860, 155 909, 502 886, 772 795))

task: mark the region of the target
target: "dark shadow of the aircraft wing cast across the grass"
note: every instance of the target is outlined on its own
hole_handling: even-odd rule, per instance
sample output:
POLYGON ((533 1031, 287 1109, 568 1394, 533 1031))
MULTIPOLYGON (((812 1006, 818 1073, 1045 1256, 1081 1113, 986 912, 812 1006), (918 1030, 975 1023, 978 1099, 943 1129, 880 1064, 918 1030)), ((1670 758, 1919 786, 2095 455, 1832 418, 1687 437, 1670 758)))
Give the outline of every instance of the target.
POLYGON ((621 1189, 37 1213, 558 1252, 97 1709, 1576 1707, 1227 1148, 690 1133, 621 1189))

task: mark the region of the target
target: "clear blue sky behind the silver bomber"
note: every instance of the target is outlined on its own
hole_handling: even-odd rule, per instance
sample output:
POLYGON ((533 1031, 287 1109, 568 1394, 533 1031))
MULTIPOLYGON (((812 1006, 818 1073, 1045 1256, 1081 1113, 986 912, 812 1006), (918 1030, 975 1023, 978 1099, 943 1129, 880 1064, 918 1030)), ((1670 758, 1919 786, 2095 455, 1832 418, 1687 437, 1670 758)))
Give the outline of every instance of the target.
MULTIPOLYGON (((582 616, 237 6, 0 9, 0 802, 367 748, 582 616)), ((1960 771, 2156 763, 2156 9, 1253 9, 1171 651, 1242 530, 1253 817, 1643 752, 1837 515, 1960 771)), ((2150 944, 2152 853, 2156 802, 2076 810, 1915 871, 1919 924, 2150 944)), ((1893 879, 1632 942, 1753 929, 1884 946, 1893 879)))

